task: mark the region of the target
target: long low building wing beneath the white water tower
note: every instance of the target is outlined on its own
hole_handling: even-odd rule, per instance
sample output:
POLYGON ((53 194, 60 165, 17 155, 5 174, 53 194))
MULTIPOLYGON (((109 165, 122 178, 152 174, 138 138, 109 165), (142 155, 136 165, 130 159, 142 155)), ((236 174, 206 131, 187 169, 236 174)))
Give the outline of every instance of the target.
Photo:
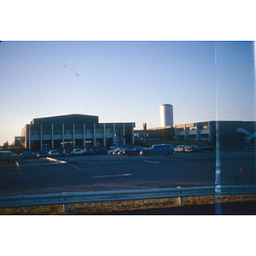
POLYGON ((220 142, 244 141, 254 143, 256 132, 253 121, 207 121, 183 125, 170 125, 159 128, 134 131, 136 140, 140 139, 169 139, 176 141, 208 141, 220 142), (218 132, 216 127, 218 125, 218 132))

